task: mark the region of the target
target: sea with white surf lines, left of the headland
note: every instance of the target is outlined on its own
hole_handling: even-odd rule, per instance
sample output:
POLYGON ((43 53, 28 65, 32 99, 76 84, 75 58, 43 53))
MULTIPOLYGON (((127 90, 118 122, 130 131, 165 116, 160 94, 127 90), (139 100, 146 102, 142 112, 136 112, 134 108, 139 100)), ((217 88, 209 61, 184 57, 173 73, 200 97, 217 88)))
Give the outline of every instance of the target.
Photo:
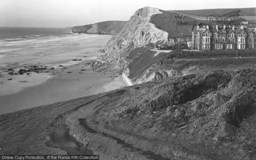
POLYGON ((0 27, 0 68, 67 62, 80 55, 74 51, 98 46, 110 37, 72 33, 66 28, 0 27))

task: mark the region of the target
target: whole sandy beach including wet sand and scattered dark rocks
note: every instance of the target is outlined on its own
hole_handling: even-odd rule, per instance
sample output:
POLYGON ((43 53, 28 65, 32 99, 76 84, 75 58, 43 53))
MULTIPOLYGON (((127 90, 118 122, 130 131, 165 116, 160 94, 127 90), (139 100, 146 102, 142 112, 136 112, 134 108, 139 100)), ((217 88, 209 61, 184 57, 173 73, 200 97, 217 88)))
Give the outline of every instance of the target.
MULTIPOLYGON (((20 63, 6 63, 0 68, 0 114, 124 87, 121 75, 113 77, 112 75, 116 73, 93 72, 89 66, 91 61, 97 60, 104 54, 100 50, 104 48, 110 37, 110 35, 98 35, 98 37, 94 35, 90 41, 78 37, 81 45, 84 44, 78 48, 50 48, 46 56, 34 57, 32 60, 27 56, 27 59, 20 63), (19 74, 20 69, 41 68, 42 70, 19 74)), ((5 60, 11 61, 11 58, 5 60)))

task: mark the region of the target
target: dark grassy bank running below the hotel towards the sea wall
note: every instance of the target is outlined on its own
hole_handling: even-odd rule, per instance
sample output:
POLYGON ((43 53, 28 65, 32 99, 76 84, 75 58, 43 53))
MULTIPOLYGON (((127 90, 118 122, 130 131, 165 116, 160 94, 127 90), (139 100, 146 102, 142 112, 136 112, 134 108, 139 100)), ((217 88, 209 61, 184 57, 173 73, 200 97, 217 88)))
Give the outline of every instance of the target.
POLYGON ((206 51, 184 51, 174 50, 169 53, 160 53, 154 56, 156 52, 151 51, 153 44, 147 47, 139 47, 129 52, 127 57, 130 62, 129 78, 136 78, 143 74, 148 68, 154 65, 162 70, 175 69, 181 73, 183 69, 195 67, 198 69, 209 68, 237 68, 255 66, 255 50, 206 50, 206 51), (182 53, 182 54, 181 54, 182 53), (236 57, 242 58, 236 58, 236 57), (250 57, 250 58, 244 58, 250 57), (161 66, 159 66, 161 62, 161 66))

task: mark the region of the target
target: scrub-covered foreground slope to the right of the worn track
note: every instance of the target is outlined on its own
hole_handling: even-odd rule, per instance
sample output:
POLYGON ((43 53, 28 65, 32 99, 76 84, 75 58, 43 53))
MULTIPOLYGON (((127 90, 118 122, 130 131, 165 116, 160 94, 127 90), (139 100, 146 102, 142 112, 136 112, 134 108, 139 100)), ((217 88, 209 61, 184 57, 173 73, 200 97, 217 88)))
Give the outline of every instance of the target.
POLYGON ((255 87, 255 69, 144 83, 103 103, 89 121, 171 159, 176 149, 177 159, 255 159, 255 87))

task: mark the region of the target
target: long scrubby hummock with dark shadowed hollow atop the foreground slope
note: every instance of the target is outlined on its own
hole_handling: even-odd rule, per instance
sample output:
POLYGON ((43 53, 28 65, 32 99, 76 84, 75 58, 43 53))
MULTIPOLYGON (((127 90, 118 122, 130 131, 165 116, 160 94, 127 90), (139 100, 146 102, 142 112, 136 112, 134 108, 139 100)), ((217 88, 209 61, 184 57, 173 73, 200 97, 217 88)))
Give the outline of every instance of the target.
POLYGON ((157 85, 151 89, 135 92, 119 106, 124 107, 124 113, 137 114, 148 113, 173 104, 186 103, 198 98, 209 88, 217 89, 218 84, 227 83, 231 79, 231 73, 223 71, 209 72, 207 75, 188 75, 173 81, 157 85))

